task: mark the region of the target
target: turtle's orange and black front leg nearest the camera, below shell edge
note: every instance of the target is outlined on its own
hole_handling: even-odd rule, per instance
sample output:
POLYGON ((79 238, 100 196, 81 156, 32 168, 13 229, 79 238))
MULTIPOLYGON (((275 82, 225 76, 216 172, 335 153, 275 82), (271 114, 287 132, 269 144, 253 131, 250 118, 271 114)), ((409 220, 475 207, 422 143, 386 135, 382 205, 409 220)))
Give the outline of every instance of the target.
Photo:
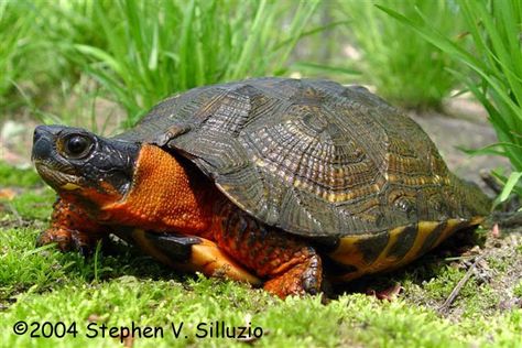
POLYGON ((281 298, 320 291, 322 262, 313 248, 259 224, 231 203, 226 203, 216 217, 214 238, 220 249, 241 264, 268 278, 264 289, 281 298))

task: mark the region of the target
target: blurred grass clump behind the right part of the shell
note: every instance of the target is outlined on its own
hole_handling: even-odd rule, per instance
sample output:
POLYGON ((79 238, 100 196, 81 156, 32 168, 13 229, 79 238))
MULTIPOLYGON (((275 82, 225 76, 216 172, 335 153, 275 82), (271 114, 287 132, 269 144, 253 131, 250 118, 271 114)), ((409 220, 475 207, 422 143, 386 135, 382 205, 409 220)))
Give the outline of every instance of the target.
MULTIPOLYGON (((406 25, 380 11, 374 1, 339 1, 340 15, 348 19, 346 39, 352 40, 360 59, 348 62, 362 74, 359 83, 372 85, 379 95, 406 108, 439 108, 455 87, 456 78, 446 69, 455 67, 448 54, 406 25)), ((445 35, 459 33, 461 20, 448 1, 382 0, 382 6, 422 22, 418 8, 429 13, 429 22, 445 35)))

